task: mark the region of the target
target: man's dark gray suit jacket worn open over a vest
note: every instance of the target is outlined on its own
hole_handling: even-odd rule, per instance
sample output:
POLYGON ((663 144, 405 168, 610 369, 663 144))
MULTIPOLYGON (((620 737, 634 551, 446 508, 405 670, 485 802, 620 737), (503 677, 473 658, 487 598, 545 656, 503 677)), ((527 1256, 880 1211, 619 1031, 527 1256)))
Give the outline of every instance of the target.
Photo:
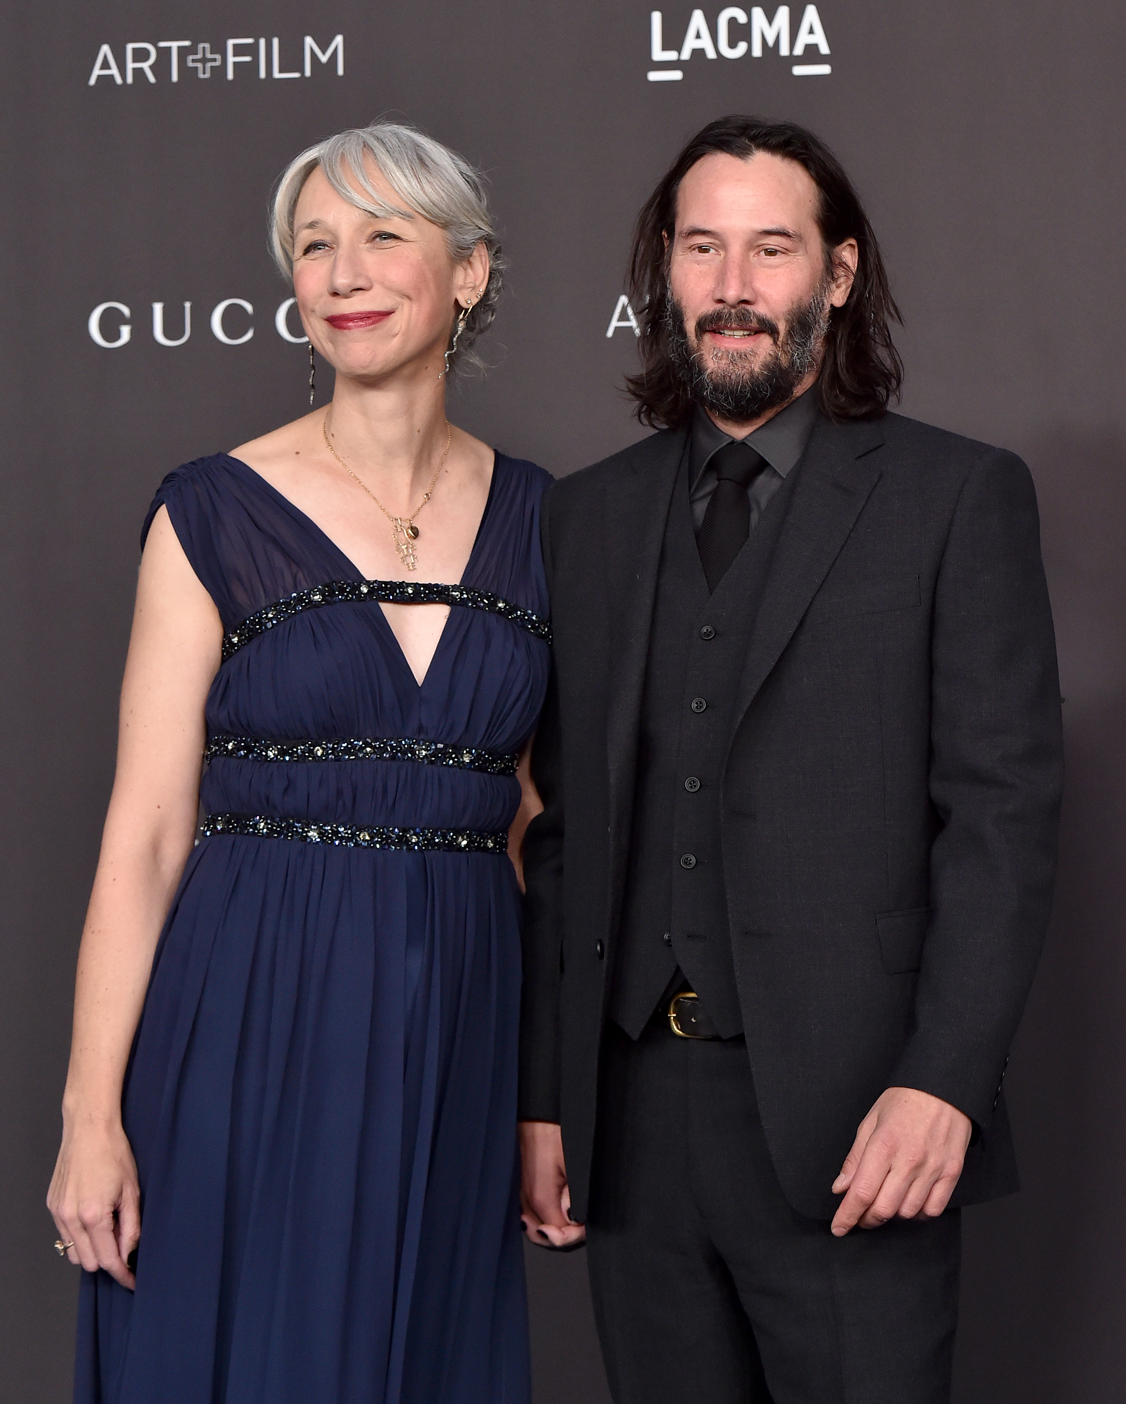
MULTIPOLYGON (((521 1116, 562 1120, 585 1213, 649 626, 684 434, 557 482, 555 677, 525 838, 521 1116)), ((722 786, 767 1143, 830 1185, 886 1087, 980 1129, 955 1203, 1016 1188, 1000 1085, 1052 901, 1060 692, 1036 494, 1012 453, 900 416, 819 420, 747 650, 722 786)))

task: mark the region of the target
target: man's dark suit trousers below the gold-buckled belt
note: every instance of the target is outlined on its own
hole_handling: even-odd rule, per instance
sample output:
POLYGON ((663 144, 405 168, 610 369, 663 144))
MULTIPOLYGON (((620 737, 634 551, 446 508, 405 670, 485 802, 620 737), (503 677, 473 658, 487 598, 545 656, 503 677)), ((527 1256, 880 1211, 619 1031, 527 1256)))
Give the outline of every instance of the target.
POLYGON ((946 1404, 958 1212, 834 1238, 790 1209, 741 1038, 608 1025, 598 1127, 587 1238, 615 1404, 946 1404))

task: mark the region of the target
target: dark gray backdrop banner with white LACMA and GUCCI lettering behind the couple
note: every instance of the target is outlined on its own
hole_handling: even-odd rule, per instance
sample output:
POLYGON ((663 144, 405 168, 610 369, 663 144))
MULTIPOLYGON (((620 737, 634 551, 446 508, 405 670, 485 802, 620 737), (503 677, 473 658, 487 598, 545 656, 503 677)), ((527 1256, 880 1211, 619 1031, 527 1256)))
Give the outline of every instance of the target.
MULTIPOLYGON (((407 119, 487 173, 511 263, 451 416, 556 475, 642 434, 635 213, 731 111, 856 180, 904 310, 903 409, 1036 477, 1068 736, 1052 941, 1008 1087, 1025 1189, 966 1216, 960 1404, 1119 1404, 1126 1206, 1123 10, 1112 0, 226 0, 8 7, 0 1396, 65 1404, 74 1269, 42 1206, 153 489, 303 413, 267 201, 407 119)), ((324 376, 322 376, 324 379, 324 376)), ((330 386, 319 386, 323 399, 330 386)), ((607 609, 614 601, 607 601, 607 609)), ((539 1404, 604 1404, 581 1255, 529 1259, 539 1404)), ((327 1401, 326 1401, 327 1404, 327 1401)))

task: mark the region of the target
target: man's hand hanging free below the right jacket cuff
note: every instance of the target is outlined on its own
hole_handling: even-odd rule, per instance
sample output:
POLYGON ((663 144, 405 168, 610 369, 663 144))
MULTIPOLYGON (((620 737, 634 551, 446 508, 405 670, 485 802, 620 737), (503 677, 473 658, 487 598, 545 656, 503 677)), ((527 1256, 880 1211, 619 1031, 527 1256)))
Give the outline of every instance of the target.
POLYGON ((834 1236, 842 1238, 856 1224, 879 1228, 889 1219, 936 1219, 962 1174, 972 1129, 949 1102, 889 1087, 861 1122, 833 1182, 833 1193, 844 1195, 834 1236))

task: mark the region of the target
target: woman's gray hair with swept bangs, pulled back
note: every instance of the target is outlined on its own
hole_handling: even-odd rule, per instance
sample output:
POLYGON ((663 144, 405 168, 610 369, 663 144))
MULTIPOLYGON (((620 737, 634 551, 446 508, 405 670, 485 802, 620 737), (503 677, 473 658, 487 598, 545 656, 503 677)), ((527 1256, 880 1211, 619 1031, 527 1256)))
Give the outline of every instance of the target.
POLYGON ((473 343, 497 312, 504 260, 484 195, 482 176, 456 152, 413 126, 373 122, 340 132, 310 146, 289 163, 278 183, 270 220, 274 261, 286 278, 293 274, 293 215, 305 183, 320 167, 333 190, 379 219, 413 219, 421 215, 445 230, 449 254, 463 263, 477 244, 489 254, 489 282, 466 319, 451 357, 451 369, 483 369, 473 343), (371 161, 403 202, 389 205, 368 176, 371 161))

